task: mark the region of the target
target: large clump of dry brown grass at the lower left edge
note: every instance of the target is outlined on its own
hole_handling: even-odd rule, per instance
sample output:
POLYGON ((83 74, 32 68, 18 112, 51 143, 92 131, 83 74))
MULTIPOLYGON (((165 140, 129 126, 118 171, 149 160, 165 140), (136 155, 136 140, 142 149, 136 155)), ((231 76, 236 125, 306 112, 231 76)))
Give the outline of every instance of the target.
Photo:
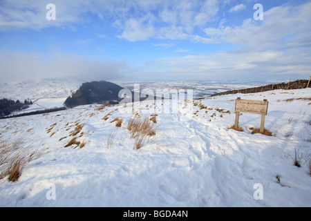
POLYGON ((44 151, 26 146, 23 140, 21 137, 12 143, 0 142, 0 179, 8 176, 9 181, 18 181, 23 168, 44 155, 44 151))

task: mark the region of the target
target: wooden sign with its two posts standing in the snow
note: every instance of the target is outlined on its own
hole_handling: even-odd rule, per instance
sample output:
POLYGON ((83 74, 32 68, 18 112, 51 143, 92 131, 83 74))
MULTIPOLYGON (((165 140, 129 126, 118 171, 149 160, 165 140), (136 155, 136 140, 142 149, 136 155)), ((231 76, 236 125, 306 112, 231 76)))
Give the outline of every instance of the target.
POLYGON ((263 133, 268 104, 269 102, 266 99, 263 101, 254 101, 250 99, 241 99, 241 97, 238 97, 238 99, 236 99, 236 122, 234 124, 234 128, 238 128, 238 116, 240 115, 240 112, 254 113, 261 115, 260 133, 263 133))

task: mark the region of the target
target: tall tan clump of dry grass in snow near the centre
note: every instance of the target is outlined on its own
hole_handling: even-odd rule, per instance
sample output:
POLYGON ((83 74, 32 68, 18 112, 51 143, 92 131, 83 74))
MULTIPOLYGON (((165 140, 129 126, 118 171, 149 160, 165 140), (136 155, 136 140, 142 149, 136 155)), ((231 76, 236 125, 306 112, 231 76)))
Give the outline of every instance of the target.
POLYGON ((128 122, 128 130, 131 131, 131 138, 135 139, 134 148, 140 149, 149 137, 156 135, 158 127, 150 122, 149 117, 132 118, 128 122))

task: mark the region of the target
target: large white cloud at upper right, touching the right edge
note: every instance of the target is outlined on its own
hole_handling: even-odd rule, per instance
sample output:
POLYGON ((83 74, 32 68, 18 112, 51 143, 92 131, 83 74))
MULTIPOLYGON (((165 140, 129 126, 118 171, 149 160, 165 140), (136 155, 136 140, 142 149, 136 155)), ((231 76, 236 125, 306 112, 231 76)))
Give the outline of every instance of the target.
POLYGON ((280 6, 265 12, 261 24, 246 19, 241 26, 206 28, 214 41, 238 44, 244 48, 264 51, 310 47, 311 3, 302 6, 280 6))

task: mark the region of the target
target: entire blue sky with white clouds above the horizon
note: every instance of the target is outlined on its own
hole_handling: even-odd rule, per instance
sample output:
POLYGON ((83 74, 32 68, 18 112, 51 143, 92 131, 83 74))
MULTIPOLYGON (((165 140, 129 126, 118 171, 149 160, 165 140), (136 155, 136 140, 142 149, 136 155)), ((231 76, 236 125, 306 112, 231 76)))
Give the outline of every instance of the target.
POLYGON ((0 81, 308 79, 311 1, 2 0, 0 39, 0 81))

